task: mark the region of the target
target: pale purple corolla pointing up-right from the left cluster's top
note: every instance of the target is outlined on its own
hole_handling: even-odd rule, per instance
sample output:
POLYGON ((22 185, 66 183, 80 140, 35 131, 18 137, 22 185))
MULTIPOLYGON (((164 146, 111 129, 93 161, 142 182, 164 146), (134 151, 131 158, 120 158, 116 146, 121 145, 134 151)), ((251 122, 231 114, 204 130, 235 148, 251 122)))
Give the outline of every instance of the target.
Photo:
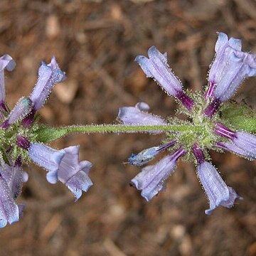
POLYGON ((33 109, 39 110, 45 104, 53 86, 66 79, 65 72, 60 70, 58 63, 53 57, 48 65, 42 63, 38 70, 38 81, 30 95, 33 101, 33 109))

